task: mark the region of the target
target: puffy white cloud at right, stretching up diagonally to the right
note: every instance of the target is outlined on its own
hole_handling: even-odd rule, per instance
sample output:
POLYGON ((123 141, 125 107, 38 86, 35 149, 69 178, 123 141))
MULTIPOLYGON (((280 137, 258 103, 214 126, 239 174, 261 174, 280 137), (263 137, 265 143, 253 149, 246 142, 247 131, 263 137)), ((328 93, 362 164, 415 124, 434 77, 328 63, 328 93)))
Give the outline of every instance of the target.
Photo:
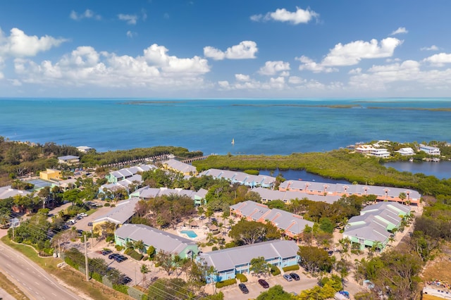
POLYGON ((307 56, 297 58, 297 60, 303 63, 299 65, 299 70, 311 70, 315 73, 333 72, 337 69, 329 67, 357 65, 364 58, 385 58, 393 56, 393 52, 400 44, 402 44, 402 41, 395 37, 387 37, 382 39, 380 43, 376 39, 371 39, 370 42, 354 41, 344 45, 339 43, 333 49, 330 49, 321 63, 315 63, 307 56))

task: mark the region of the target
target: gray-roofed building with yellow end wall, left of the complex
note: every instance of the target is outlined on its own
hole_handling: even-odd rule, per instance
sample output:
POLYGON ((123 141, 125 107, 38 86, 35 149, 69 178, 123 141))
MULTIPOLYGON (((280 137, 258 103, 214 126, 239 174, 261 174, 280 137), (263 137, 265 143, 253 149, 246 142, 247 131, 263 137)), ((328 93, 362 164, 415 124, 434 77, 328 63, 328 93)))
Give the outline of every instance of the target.
POLYGON ((135 215, 135 206, 138 201, 140 201, 138 198, 120 201, 109 213, 93 220, 92 229, 94 232, 101 232, 101 224, 106 222, 114 223, 116 227, 128 223, 133 215, 135 215))

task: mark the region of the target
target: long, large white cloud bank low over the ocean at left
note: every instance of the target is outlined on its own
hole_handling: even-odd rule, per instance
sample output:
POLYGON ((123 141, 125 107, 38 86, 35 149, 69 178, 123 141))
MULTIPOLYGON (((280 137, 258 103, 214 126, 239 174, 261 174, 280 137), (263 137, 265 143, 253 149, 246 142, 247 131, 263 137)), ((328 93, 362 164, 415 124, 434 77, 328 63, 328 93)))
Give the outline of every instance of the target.
POLYGON ((192 89, 205 86, 203 75, 208 61, 199 56, 169 56, 164 46, 153 44, 143 56, 118 56, 80 46, 55 63, 16 58, 14 66, 20 80, 42 85, 97 87, 146 87, 154 89, 192 89))

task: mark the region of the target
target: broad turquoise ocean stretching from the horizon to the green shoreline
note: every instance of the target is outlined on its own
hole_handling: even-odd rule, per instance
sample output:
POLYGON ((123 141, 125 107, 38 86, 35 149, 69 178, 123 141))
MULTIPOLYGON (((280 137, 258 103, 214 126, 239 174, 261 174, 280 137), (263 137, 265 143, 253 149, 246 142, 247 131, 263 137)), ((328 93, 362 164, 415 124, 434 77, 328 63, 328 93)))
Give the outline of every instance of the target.
POLYGON ((451 111, 423 108, 451 108, 451 99, 0 99, 0 135, 97 151, 171 145, 266 155, 379 139, 451 142, 451 111))

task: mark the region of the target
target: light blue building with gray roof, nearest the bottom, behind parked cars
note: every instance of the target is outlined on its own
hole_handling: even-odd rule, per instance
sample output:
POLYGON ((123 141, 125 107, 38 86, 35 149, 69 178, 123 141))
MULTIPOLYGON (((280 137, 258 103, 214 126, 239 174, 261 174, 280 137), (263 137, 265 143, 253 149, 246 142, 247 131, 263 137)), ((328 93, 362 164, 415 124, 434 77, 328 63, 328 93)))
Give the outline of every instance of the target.
POLYGON ((197 261, 212 266, 215 273, 207 282, 219 282, 235 278, 240 273, 250 273, 252 258, 263 256, 267 263, 284 268, 299 261, 299 247, 296 242, 273 240, 246 246, 211 251, 199 254, 197 261))

